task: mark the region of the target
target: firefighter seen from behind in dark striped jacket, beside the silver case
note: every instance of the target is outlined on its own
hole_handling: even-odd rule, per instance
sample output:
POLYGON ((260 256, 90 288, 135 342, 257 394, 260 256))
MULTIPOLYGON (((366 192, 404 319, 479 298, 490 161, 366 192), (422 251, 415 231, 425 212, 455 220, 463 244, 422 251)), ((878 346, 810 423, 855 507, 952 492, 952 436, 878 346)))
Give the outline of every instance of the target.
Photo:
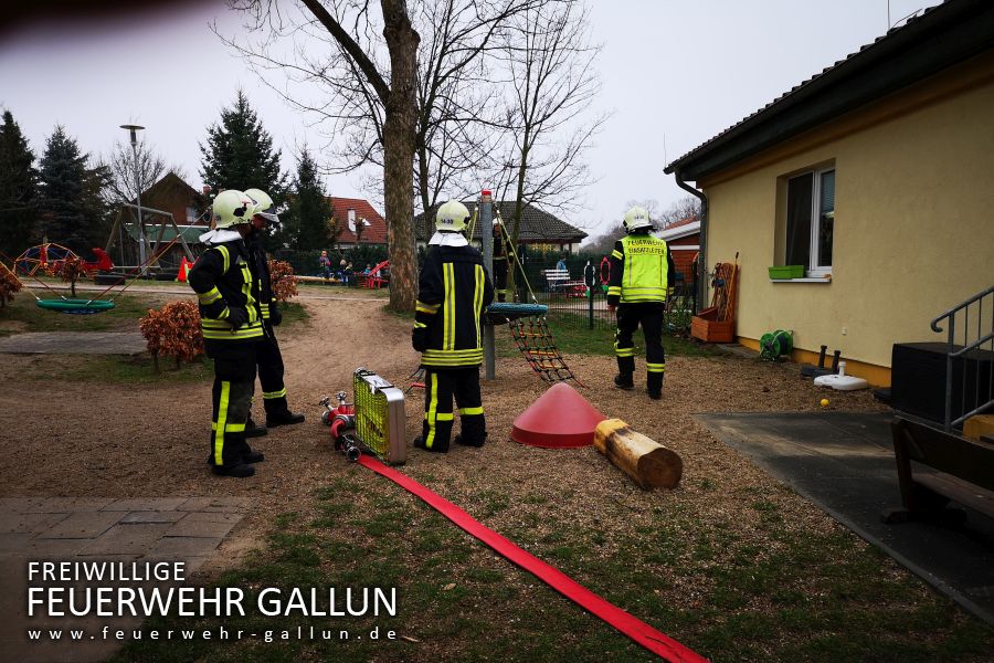
POLYGON ((452 435, 455 396, 462 431, 456 444, 483 446, 487 436, 479 393, 483 311, 494 286, 479 251, 463 231, 469 210, 450 200, 435 215, 435 234, 417 280, 411 340, 424 368, 424 422, 414 446, 445 453, 452 435))

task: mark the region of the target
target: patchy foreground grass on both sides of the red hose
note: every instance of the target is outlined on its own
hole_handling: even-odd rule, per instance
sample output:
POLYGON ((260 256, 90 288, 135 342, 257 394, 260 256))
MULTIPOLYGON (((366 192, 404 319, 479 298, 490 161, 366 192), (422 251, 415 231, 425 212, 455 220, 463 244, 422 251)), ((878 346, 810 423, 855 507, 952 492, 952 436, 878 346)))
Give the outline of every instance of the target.
MULTIPOLYGON (((356 465, 336 475, 315 491, 313 511, 278 516, 266 549, 218 579, 218 587, 245 591, 246 617, 146 623, 160 631, 223 625, 258 638, 145 640, 117 660, 656 660, 392 484, 356 465), (398 587, 398 615, 264 617, 250 610, 264 587, 284 597, 294 587, 398 587), (281 641, 298 625, 331 630, 334 640, 281 641), (373 643, 366 635, 377 625, 373 643), (338 640, 341 629, 348 641, 338 640), (275 631, 271 643, 262 641, 267 630, 275 631), (388 642, 387 630, 415 641, 388 642)), ((707 490, 717 498, 720 486, 707 490)), ((501 534, 715 661, 982 660, 994 648, 988 628, 944 598, 922 600, 919 580, 895 575, 876 549, 854 547, 849 533, 799 532, 763 495, 733 497, 765 523, 763 545, 740 538, 731 523, 701 526, 692 513, 660 507, 645 525, 605 535, 549 508, 570 495, 537 492, 511 504, 486 477, 463 506, 485 523, 514 509, 518 524, 501 534)), ((613 515, 627 509, 617 504, 613 515)))

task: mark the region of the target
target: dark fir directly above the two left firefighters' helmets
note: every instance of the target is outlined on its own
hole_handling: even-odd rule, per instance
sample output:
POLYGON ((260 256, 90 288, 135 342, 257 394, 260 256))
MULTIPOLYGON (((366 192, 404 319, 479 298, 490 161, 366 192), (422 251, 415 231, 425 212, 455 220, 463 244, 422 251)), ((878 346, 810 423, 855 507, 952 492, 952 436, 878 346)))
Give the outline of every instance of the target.
POLYGON ((208 128, 200 175, 214 191, 262 189, 278 208, 286 187, 279 172, 279 150, 266 131, 245 93, 239 91, 232 108, 221 110, 221 124, 208 128))

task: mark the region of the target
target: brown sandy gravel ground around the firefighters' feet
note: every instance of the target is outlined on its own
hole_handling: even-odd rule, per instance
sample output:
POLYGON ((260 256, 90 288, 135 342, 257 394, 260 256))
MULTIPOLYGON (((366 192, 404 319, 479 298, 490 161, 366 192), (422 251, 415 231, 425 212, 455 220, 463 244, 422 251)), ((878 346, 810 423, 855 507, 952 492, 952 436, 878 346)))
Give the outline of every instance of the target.
MULTIPOLYGON (((209 382, 151 388, 70 382, 59 379, 59 366, 71 358, 6 355, 0 357, 0 438, 6 442, 0 496, 243 495, 255 501, 247 519, 254 536, 266 529, 273 514, 306 511, 313 492, 346 466, 329 444, 318 401, 340 389, 350 391, 358 366, 406 387, 417 355, 410 346, 410 320, 388 314, 382 302, 307 301, 305 306, 309 322, 283 333, 281 345, 290 406, 304 411, 307 422, 252 441, 266 454, 255 477, 215 477, 204 464, 209 382)), ((605 344, 611 343, 609 336, 605 344)), ((520 358, 499 359, 497 379, 484 382, 490 438, 483 450, 454 448, 447 455, 411 450, 404 472, 470 513, 474 495, 489 487, 505 491, 512 501, 531 493, 574 495, 572 501, 557 501, 553 508, 564 509, 562 517, 575 514, 591 523, 604 501, 641 511, 676 499, 700 513, 732 517, 733 499, 716 499, 701 487, 715 482, 721 495, 743 487, 778 493, 778 501, 804 520, 829 526, 827 516, 796 495, 774 490, 773 480, 692 418, 695 412, 818 409, 825 393, 801 380, 796 366, 738 357, 672 358, 664 399, 651 401, 642 390, 613 388, 613 359, 567 359, 588 386, 580 391, 594 407, 683 456, 679 491, 638 491, 593 448, 550 451, 510 441, 514 419, 547 388, 520 358)), ((837 410, 879 409, 866 391, 833 392, 829 398, 837 410)), ((422 409, 422 393, 412 391, 406 402, 409 440, 420 432, 422 409)), ((254 411, 264 419, 258 396, 254 411)), ((363 481, 371 491, 383 490, 378 483, 382 480, 371 473, 363 481)), ((515 509, 507 509, 485 522, 499 529, 512 525, 505 520, 514 517, 515 509)))

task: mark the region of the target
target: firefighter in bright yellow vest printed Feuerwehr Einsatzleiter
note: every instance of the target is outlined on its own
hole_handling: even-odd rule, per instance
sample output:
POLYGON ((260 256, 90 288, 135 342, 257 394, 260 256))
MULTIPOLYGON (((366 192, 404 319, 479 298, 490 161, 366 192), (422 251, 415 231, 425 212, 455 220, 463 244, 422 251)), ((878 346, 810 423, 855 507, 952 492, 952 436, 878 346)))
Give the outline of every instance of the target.
POLYGON ((620 389, 635 387, 635 344, 632 336, 642 325, 645 336, 646 391, 649 398, 663 398, 666 356, 663 352, 663 313, 674 273, 673 256, 666 242, 653 236, 648 212, 633 207, 625 213, 625 236, 614 243, 611 253, 611 281, 607 308, 617 311, 614 354, 620 389))

